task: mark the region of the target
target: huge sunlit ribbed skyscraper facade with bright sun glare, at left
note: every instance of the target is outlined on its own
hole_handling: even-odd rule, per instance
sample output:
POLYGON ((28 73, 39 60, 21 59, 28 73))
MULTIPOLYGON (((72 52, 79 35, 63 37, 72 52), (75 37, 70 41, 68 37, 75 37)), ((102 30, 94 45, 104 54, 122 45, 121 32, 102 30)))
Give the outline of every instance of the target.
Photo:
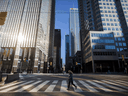
MULTIPOLYGON (((2 70, 17 71, 19 63, 37 72, 43 70, 49 54, 49 39, 53 32, 51 24, 55 0, 1 0, 0 12, 7 12, 1 27, 1 52, 3 63, 11 60, 11 67, 2 70), (40 68, 38 68, 40 66, 40 68)), ((54 16, 53 16, 54 17, 54 16)), ((54 18, 53 18, 54 19, 54 18)))

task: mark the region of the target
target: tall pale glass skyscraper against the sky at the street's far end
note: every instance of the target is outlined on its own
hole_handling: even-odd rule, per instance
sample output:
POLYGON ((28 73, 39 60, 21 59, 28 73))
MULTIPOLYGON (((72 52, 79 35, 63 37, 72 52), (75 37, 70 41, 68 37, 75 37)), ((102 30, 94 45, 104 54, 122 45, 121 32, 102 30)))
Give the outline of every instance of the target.
POLYGON ((74 56, 77 50, 81 50, 78 8, 70 8, 69 23, 70 23, 70 30, 69 30, 70 56, 74 56))

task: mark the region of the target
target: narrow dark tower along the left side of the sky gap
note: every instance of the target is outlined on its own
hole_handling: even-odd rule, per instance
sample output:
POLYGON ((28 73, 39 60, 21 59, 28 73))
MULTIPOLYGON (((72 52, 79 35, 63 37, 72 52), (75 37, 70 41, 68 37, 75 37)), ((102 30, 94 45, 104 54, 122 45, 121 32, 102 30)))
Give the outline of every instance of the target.
POLYGON ((54 60, 54 72, 61 72, 61 30, 55 29, 55 35, 54 35, 54 57, 56 60, 54 60), (56 55, 56 56, 55 56, 56 55))

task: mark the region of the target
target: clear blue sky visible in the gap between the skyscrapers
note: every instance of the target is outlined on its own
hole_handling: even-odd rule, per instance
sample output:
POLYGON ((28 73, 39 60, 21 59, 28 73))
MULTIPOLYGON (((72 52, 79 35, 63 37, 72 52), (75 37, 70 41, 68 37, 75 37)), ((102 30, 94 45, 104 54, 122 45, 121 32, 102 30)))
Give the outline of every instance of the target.
POLYGON ((55 29, 61 29, 61 57, 65 64, 65 34, 69 34, 69 9, 78 8, 77 0, 56 0, 55 29))

